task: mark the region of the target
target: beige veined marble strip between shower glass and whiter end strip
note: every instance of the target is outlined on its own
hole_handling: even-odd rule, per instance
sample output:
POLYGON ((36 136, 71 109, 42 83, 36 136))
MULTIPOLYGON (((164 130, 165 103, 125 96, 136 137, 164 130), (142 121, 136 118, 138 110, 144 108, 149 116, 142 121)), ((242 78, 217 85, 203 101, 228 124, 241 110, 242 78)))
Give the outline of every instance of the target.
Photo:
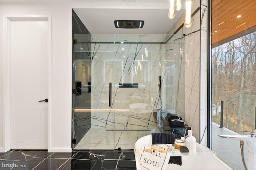
POLYGON ((200 143, 200 11, 192 17, 186 31, 186 116, 193 136, 200 143))

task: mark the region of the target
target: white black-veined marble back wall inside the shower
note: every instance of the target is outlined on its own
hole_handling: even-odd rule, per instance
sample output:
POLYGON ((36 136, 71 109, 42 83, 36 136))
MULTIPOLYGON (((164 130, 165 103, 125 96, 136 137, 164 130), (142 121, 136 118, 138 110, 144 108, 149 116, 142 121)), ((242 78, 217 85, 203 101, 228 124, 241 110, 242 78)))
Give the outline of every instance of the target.
POLYGON ((157 109, 158 76, 165 59, 165 45, 95 44, 92 49, 92 127, 156 126, 152 115, 153 109, 157 109), (111 106, 108 105, 110 82, 111 106), (136 83, 138 87, 119 87, 123 83, 136 83), (150 107, 134 113, 130 110, 131 104, 147 104, 150 107))

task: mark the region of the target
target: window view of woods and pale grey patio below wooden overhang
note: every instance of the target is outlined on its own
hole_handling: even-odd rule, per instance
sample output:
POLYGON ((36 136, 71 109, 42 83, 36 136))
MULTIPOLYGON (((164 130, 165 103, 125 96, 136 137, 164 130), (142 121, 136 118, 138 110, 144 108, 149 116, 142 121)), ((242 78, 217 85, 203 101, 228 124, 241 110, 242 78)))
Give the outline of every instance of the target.
MULTIPOLYGON (((256 32, 212 49, 212 150, 233 170, 244 169, 240 141, 220 139, 218 135, 254 131, 255 62, 256 32)), ((244 155, 247 164, 246 145, 244 155)))

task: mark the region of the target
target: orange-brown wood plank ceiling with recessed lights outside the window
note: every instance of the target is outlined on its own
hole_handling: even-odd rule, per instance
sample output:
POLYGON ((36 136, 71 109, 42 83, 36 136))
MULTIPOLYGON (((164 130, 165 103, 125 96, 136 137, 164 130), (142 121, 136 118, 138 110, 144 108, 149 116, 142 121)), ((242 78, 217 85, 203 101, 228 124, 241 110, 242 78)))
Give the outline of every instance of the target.
POLYGON ((212 45, 255 25, 256 0, 212 0, 212 45))

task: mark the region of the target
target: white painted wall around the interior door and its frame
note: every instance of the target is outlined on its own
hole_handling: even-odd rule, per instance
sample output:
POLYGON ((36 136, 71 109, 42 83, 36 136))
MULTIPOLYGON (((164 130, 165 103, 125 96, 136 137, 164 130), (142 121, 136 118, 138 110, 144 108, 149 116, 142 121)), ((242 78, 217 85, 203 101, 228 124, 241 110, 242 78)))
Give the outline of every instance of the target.
MULTIPOLYGON (((52 16, 52 84, 50 110, 49 152, 71 152, 71 61, 72 61, 72 8, 57 3, 0 4, 0 25, 5 25, 3 16, 50 15, 52 16)), ((4 28, 0 27, 0 51, 4 51, 4 28)), ((33 43, 33 42, 31 42, 33 43)), ((29 44, 28 44, 29 45, 29 44)), ((0 53, 0 108, 3 100, 3 53, 0 53)), ((3 111, 0 110, 0 120, 3 111)), ((2 123, 0 123, 2 126, 2 123)), ((31 127, 33 128, 33 127, 31 127)), ((4 148, 3 127, 0 127, 0 152, 4 148)))

